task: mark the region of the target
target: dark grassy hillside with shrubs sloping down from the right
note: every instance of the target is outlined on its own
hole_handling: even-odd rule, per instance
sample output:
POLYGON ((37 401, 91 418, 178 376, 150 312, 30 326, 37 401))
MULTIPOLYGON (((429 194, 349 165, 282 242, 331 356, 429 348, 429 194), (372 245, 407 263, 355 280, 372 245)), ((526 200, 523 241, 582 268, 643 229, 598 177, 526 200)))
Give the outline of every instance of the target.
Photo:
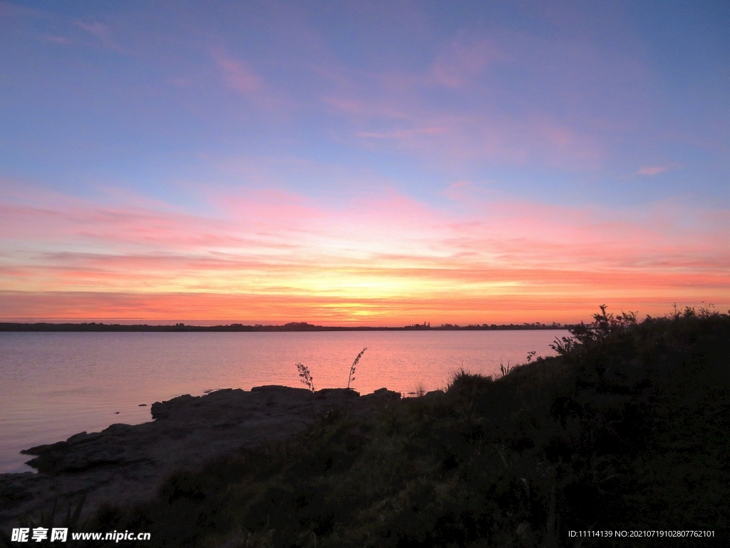
POLYGON ((459 371, 367 419, 178 473, 86 530, 150 546, 717 546, 730 516, 730 316, 596 314, 557 357, 459 371), (714 530, 571 539, 569 530, 714 530))

